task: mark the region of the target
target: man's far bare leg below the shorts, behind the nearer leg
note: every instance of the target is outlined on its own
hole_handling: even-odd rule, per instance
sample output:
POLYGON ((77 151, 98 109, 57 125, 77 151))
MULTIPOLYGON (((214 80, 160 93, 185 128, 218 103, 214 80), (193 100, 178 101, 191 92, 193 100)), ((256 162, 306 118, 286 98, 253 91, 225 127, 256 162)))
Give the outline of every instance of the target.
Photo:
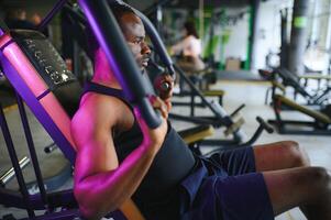
POLYGON ((283 141, 253 147, 256 172, 309 166, 306 152, 297 142, 283 141))

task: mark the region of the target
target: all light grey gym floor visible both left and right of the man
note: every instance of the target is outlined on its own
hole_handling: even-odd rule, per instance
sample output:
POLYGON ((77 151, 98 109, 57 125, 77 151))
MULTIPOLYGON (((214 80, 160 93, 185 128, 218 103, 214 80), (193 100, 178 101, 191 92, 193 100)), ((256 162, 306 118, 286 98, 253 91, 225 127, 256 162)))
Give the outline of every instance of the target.
MULTIPOLYGON (((225 90, 225 97, 223 100, 224 108, 228 112, 232 112, 240 105, 245 103, 246 107, 241 111, 241 116, 244 117, 245 124, 243 125, 244 132, 250 138, 255 129, 257 128, 257 122, 255 120, 256 116, 261 116, 265 120, 274 119, 274 112, 269 106, 264 105, 265 92, 269 87, 267 82, 256 82, 256 81, 219 81, 217 85, 212 86, 216 89, 225 90)), ((188 108, 174 107, 174 112, 187 113, 188 108)), ((197 113, 208 114, 203 109, 197 109, 197 113)), ((286 112, 289 119, 307 119, 297 112, 286 112)), ((10 130, 12 132, 12 138, 14 140, 14 145, 19 151, 19 158, 26 153, 25 139, 23 136, 22 127, 20 123, 20 117, 16 108, 11 108, 5 113, 8 123, 10 124, 10 130)), ((62 154, 58 150, 52 154, 45 154, 43 152, 44 146, 52 143, 51 138, 46 134, 43 128, 38 124, 35 118, 29 112, 29 120, 34 138, 34 142, 38 152, 38 158, 41 167, 43 170, 43 176, 52 176, 52 174, 60 169, 59 165, 64 164, 62 154)), ((174 127, 178 130, 191 127, 191 124, 185 122, 173 122, 174 127)), ((223 136, 221 131, 217 131, 214 138, 223 136)), ((330 136, 315 136, 315 135, 279 135, 277 133, 267 134, 264 132, 262 136, 257 140, 257 144, 276 142, 282 140, 294 140, 297 141, 309 154, 312 165, 324 166, 331 169, 331 147, 330 147, 330 136)), ((206 148, 208 151, 208 148, 206 148)), ((10 162, 8 158, 8 153, 5 150, 3 136, 0 135, 0 174, 10 167, 10 162)), ((31 165, 24 169, 24 176, 29 179, 33 179, 31 175, 31 165)), ((312 179, 313 180, 313 179, 312 179)), ((71 179, 64 183, 62 188, 71 187, 71 179)), ((15 180, 11 180, 8 188, 16 188, 18 185, 15 180)), ((22 218, 26 215, 25 211, 4 208, 0 206, 0 218, 3 215, 13 213, 16 218, 22 218)), ((279 217, 276 220, 305 220, 305 217, 298 209, 293 209, 279 217)))

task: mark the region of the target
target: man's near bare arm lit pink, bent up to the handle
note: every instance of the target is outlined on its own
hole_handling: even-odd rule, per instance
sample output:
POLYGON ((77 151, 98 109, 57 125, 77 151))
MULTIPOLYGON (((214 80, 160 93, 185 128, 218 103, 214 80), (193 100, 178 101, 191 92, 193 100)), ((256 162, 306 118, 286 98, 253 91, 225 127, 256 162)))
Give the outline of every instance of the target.
POLYGON ((102 102, 96 105, 93 101, 85 101, 71 122, 71 133, 77 145, 74 190, 80 210, 88 219, 100 219, 132 196, 166 133, 166 123, 150 130, 136 113, 144 140, 119 164, 111 128, 118 123, 117 118, 122 113, 119 108, 109 112, 119 105, 113 99, 109 101, 108 97, 102 102))

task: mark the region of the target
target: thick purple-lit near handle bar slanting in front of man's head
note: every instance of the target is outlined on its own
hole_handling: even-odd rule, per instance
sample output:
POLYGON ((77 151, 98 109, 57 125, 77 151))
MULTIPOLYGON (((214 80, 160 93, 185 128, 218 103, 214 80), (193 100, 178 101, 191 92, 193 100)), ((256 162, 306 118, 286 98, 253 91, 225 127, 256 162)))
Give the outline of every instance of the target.
POLYGON ((152 108, 141 70, 129 50, 124 36, 113 16, 107 0, 79 0, 87 20, 104 51, 108 62, 119 80, 125 97, 137 106, 143 119, 152 129, 161 124, 161 118, 152 108))

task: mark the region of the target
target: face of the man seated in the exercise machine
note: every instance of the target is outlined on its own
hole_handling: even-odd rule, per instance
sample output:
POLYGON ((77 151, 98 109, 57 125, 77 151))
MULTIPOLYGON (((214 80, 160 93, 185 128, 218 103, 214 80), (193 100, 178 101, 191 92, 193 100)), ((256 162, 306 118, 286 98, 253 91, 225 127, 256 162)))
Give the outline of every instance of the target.
POLYGON ((133 56, 143 70, 150 61, 151 50, 145 43, 145 29, 140 18, 125 13, 120 19, 120 26, 133 56))

